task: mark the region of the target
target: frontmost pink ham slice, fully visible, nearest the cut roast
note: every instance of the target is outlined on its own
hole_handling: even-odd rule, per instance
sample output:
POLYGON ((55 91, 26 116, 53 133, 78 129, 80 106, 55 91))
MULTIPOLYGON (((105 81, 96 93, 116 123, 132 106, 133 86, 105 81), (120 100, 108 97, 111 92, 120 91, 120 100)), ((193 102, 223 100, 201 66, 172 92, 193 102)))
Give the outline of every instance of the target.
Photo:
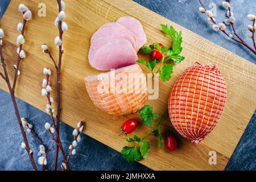
POLYGON ((89 63, 93 68, 100 71, 109 71, 136 64, 137 52, 128 40, 121 39, 113 43, 101 46, 94 54, 89 63))

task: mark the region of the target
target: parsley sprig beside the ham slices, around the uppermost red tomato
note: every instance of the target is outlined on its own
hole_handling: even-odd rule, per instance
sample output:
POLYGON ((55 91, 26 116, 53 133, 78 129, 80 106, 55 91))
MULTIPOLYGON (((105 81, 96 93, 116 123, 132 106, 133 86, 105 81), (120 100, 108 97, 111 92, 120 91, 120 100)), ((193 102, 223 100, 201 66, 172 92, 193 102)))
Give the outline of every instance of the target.
POLYGON ((170 36, 172 39, 171 46, 168 49, 165 46, 160 46, 159 43, 156 41, 154 44, 150 46, 142 46, 141 51, 143 53, 151 53, 152 51, 159 51, 162 53, 163 58, 162 60, 152 60, 151 63, 145 60, 138 60, 138 63, 145 64, 146 67, 152 73, 152 77, 159 74, 159 77, 162 81, 168 81, 171 78, 171 74, 173 72, 173 64, 170 61, 174 61, 174 63, 180 63, 185 59, 185 57, 180 56, 182 51, 181 43, 182 43, 182 36, 181 31, 177 32, 174 27, 168 24, 161 24, 162 32, 170 36), (168 62, 167 62, 168 61, 168 62), (163 65, 163 63, 168 63, 163 65), (160 67, 154 72, 154 68, 156 67, 156 63, 160 63, 160 67))

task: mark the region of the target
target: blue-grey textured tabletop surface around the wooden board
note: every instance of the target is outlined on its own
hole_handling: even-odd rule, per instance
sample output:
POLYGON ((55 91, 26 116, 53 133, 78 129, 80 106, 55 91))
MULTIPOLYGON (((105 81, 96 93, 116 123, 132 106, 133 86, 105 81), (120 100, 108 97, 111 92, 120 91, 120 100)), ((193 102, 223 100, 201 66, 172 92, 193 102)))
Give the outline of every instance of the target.
MULTIPOLYGON (((254 56, 253 53, 250 53, 242 46, 231 42, 220 32, 216 33, 212 31, 205 16, 199 13, 199 3, 196 0, 135 0, 135 2, 140 3, 148 9, 165 16, 201 36, 204 36, 216 44, 229 49, 254 64, 256 63, 256 56, 254 56)), ((222 0, 213 0, 211 2, 216 3, 216 19, 221 21, 225 18, 226 11, 219 6, 222 0)), ((9 0, 0 1, 0 17, 4 13, 8 3, 9 0)), ((26 1, 24 1, 24 3, 26 3, 26 1)), ((208 7, 209 2, 205 4, 208 7)), ((234 11, 234 16, 237 18, 237 32, 243 35, 245 40, 250 41, 247 36, 248 31, 246 28, 247 24, 250 22, 246 19, 246 15, 250 13, 256 14, 256 3, 249 0, 232 1, 232 9, 234 11)), ((30 170, 31 164, 27 153, 20 148, 22 137, 20 135, 10 96, 8 93, 0 90, 0 98, 0 170, 30 170)), ((49 121, 49 116, 19 99, 18 106, 22 117, 29 118, 29 122, 35 125, 36 132, 43 138, 47 146, 49 148, 54 148, 54 143, 43 127, 44 123, 49 121)), ((245 133, 226 167, 226 170, 256 170, 255 121, 256 116, 254 113, 253 118, 251 118, 245 133)), ((61 139, 63 140, 64 148, 68 148, 68 145, 72 142, 72 130, 71 127, 61 123, 61 139)), ((72 156, 71 159, 71 168, 73 170, 148 170, 148 168, 139 163, 127 163, 117 151, 114 151, 112 148, 109 148, 84 134, 82 134, 81 138, 81 143, 79 143, 79 146, 77 147, 77 154, 72 156)), ((38 151, 38 148, 35 148, 38 146, 38 143, 31 134, 28 134, 28 140, 31 143, 32 150, 38 151)), ((49 154, 49 169, 53 166, 53 153, 54 152, 51 152, 49 154)))

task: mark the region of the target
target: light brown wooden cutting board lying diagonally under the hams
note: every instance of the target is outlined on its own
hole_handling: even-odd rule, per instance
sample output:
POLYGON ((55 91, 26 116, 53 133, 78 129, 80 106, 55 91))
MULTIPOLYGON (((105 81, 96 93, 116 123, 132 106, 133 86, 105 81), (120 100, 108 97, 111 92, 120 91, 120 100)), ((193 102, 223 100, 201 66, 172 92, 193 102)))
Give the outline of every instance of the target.
MULTIPOLYGON (((5 15, 1 20, 1 27, 6 32, 5 58, 11 77, 13 77, 13 64, 16 61, 16 24, 22 20, 18 12, 18 5, 24 1, 11 1, 5 15)), ((47 43, 57 56, 53 40, 57 36, 54 20, 57 15, 56 1, 45 0, 46 17, 38 16, 38 3, 40 1, 26 1, 32 10, 33 19, 28 22, 26 30, 27 58, 22 61, 21 75, 16 87, 16 96, 32 106, 45 111, 46 98, 41 96, 41 81, 44 67, 53 69, 49 57, 42 52, 40 46, 47 43)), ((147 35, 148 43, 155 40, 166 45, 170 39, 160 32, 159 24, 171 24, 183 32, 183 53, 185 60, 174 66, 172 78, 167 82, 160 82, 158 100, 147 101, 154 106, 156 113, 162 114, 167 107, 167 100, 177 77, 189 65, 199 61, 202 64, 216 64, 228 85, 228 100, 220 122, 204 140, 203 144, 193 146, 187 139, 177 134, 179 143, 175 152, 168 152, 165 148, 157 147, 157 139, 148 137, 151 150, 147 159, 141 161, 145 166, 155 170, 222 170, 225 168, 234 148, 243 134, 256 106, 256 65, 226 51, 224 48, 202 38, 170 20, 126 0, 105 1, 67 1, 67 23, 69 31, 64 34, 64 56, 62 69, 62 120, 72 127, 80 120, 86 121, 85 134, 98 141, 121 151, 127 143, 123 137, 118 136, 120 126, 127 118, 139 118, 138 114, 117 118, 102 113, 90 100, 84 84, 84 77, 100 73, 90 67, 87 59, 90 46, 90 37, 104 23, 114 22, 120 16, 134 16, 141 21, 147 35), (217 164, 210 165, 209 151, 217 152, 217 164)), ((175 15, 174 15, 175 16, 175 15)), ((147 59, 139 55, 140 58, 147 59)), ((141 66, 144 72, 147 68, 141 66)), ((51 77, 51 84, 55 84, 55 77, 51 77), (54 78, 54 79, 53 79, 54 78)), ((3 80, 0 88, 7 90, 3 80)), ((53 87, 53 94, 56 88, 53 87)), ((26 116, 23 116, 26 117, 26 116)), ((36 123, 36 125, 44 125, 36 123)), ((49 121, 48 121, 49 122, 49 121)), ((167 117, 165 127, 171 127, 167 117)), ((39 126, 38 126, 39 127, 39 126)), ((143 137, 149 129, 139 125, 134 134, 143 137)), ((163 129, 165 130, 165 129, 163 129)), ((129 135, 131 136, 131 135, 129 135)), ((82 151, 80 151, 82 153, 82 151)))

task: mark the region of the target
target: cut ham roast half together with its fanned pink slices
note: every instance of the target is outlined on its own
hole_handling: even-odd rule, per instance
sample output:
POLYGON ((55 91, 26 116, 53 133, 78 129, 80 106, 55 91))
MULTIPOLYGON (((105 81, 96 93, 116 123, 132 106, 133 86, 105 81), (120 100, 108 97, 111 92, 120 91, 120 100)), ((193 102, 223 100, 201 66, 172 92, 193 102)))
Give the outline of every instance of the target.
POLYGON ((142 109, 147 100, 146 76, 137 64, 137 52, 147 42, 141 23, 121 17, 92 35, 89 63, 100 71, 85 78, 94 105, 106 113, 121 116, 142 109))

